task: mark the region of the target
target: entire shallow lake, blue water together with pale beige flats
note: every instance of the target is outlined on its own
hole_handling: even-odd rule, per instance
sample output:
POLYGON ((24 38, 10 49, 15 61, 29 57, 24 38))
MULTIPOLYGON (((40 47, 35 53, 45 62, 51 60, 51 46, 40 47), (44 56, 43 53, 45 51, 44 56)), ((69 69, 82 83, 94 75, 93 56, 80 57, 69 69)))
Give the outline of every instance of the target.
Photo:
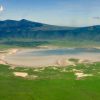
POLYGON ((62 48, 62 49, 36 49, 22 50, 9 55, 5 60, 14 65, 50 66, 59 59, 77 58, 100 61, 100 49, 96 48, 62 48))

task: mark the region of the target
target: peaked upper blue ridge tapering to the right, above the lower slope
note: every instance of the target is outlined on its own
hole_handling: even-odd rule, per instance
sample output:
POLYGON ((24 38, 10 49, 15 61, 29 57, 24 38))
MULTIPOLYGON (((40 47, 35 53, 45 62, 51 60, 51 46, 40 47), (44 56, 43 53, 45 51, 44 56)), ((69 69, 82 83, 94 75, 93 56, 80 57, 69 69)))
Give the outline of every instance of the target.
POLYGON ((55 25, 48 25, 38 22, 32 22, 28 21, 26 19, 22 19, 20 21, 15 20, 5 20, 0 21, 0 28, 2 29, 9 29, 9 28, 15 28, 15 29, 32 29, 34 31, 37 30, 69 30, 74 29, 74 27, 63 27, 63 26, 55 26, 55 25))

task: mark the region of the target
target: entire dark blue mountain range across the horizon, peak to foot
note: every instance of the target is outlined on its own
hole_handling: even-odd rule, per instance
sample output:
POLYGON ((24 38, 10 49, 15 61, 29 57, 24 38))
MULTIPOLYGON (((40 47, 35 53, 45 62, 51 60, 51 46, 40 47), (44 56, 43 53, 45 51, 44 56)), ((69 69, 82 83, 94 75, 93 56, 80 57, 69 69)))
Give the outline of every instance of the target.
POLYGON ((0 39, 33 39, 33 40, 94 40, 100 41, 100 25, 89 27, 63 27, 32 22, 0 21, 0 39))

